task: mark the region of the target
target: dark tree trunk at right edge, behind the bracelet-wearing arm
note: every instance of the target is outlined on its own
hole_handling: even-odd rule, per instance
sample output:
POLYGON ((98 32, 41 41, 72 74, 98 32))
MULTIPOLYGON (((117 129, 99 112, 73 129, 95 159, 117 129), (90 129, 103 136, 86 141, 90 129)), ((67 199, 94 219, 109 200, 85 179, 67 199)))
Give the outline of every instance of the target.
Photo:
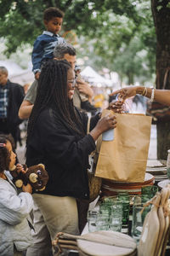
MULTIPOLYGON (((168 0, 151 0, 156 26, 156 89, 170 90, 170 8, 168 0), (167 78, 166 78, 167 74, 167 78)), ((170 148, 170 122, 157 124, 157 159, 167 160, 170 148)))

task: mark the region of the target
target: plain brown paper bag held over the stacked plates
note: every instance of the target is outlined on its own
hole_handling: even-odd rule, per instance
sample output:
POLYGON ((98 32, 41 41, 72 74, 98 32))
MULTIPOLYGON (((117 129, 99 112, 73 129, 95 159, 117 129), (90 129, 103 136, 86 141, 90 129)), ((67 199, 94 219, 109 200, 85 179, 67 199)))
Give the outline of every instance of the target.
MULTIPOLYGON (((112 113, 105 110, 102 115, 112 113)), ((150 145, 151 117, 115 113, 113 141, 102 141, 95 175, 122 182, 144 182, 150 145)))

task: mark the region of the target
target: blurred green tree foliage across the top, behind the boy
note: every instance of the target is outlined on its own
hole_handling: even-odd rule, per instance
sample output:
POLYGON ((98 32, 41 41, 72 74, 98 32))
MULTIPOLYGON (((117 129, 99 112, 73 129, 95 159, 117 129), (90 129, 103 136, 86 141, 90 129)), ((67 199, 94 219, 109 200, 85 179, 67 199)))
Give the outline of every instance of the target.
POLYGON ((132 81, 144 74, 148 79, 155 71, 150 0, 0 0, 0 38, 5 38, 7 56, 32 46, 44 29, 43 10, 49 6, 65 12, 62 32, 77 34, 77 55, 85 64, 97 70, 108 67, 132 81))

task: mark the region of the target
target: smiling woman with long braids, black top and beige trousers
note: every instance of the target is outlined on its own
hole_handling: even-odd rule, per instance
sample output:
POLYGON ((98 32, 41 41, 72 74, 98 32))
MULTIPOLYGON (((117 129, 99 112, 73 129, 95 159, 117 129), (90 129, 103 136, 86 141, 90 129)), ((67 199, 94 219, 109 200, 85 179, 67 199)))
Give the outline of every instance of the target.
POLYGON ((44 164, 49 179, 46 189, 33 194, 34 245, 26 256, 50 255, 59 231, 79 234, 76 198, 89 197, 88 154, 102 132, 116 127, 114 115, 100 119, 97 114, 87 135, 88 116, 73 106, 74 86, 67 61, 48 61, 42 68, 28 123, 26 164, 44 164))

